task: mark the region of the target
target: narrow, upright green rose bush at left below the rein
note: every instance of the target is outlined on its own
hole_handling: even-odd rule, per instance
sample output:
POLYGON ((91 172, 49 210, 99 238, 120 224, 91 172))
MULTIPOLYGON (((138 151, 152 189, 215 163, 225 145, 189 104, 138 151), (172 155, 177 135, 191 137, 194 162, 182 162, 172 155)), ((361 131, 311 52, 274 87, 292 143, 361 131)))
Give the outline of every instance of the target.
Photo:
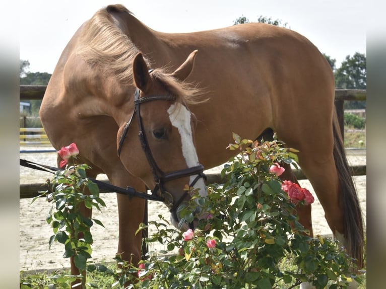
MULTIPOLYGON (((74 161, 72 157, 70 160, 74 161)), ((51 192, 44 192, 47 200, 52 203, 46 221, 51 225, 53 235, 49 238, 49 247, 53 242, 63 244, 63 258, 73 258, 75 266, 80 270, 79 276, 61 276, 59 283, 68 283, 80 278, 82 288, 85 288, 85 275, 88 268, 87 260, 91 258, 93 237, 90 228, 94 223, 103 226, 97 220, 89 218, 80 212, 81 206, 96 208, 106 206, 99 197, 98 186, 86 176, 88 165, 67 166, 65 170, 56 171, 52 181, 48 182, 51 192)), ((36 197, 37 198, 37 197, 36 197)), ((33 199, 33 201, 36 200, 33 199)), ((32 201, 32 202, 33 202, 32 201)))

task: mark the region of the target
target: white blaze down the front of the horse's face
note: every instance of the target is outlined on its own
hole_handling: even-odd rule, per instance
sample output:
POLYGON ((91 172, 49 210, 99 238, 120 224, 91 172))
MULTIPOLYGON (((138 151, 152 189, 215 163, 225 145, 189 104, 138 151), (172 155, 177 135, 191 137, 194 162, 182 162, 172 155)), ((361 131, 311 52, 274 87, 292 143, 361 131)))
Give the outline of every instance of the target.
MULTIPOLYGON (((198 166, 199 157, 197 156, 196 148, 193 143, 193 134, 190 125, 190 111, 179 102, 172 104, 167 110, 169 113, 169 119, 171 124, 178 129, 181 136, 182 143, 182 155, 185 158, 185 162, 188 168, 198 166)), ((197 175, 190 176, 189 182, 191 183, 197 175)), ((200 195, 206 196, 207 189, 204 180, 200 178, 195 188, 200 188, 200 195)))

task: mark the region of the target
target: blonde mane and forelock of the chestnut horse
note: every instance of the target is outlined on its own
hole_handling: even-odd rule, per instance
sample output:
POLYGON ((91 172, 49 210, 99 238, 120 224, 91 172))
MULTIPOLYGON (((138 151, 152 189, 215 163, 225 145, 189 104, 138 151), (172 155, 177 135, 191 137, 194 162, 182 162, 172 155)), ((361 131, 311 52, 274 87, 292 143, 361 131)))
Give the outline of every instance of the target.
MULTIPOLYGON (((121 5, 108 6, 99 10, 85 24, 80 35, 77 53, 88 64, 98 67, 103 73, 114 75, 121 83, 131 84, 133 60, 140 50, 115 25, 110 12, 131 14, 121 5)), ((144 59, 149 66, 150 61, 144 59)), ((197 86, 177 81, 167 74, 166 68, 155 69, 151 77, 160 81, 169 93, 182 97, 183 99, 180 100, 186 104, 202 101, 197 98, 202 94, 197 86)))

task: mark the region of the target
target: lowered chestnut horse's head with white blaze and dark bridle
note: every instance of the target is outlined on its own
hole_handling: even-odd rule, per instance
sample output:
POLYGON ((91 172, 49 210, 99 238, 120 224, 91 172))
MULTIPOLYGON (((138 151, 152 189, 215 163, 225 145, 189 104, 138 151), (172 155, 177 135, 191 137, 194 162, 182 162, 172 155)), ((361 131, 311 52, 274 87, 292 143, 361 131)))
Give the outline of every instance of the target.
MULTIPOLYGON (((150 72, 142 54, 137 54, 133 62, 135 110, 118 131, 118 155, 123 165, 165 199, 176 228, 180 221, 178 207, 190 198, 184 190, 186 185, 207 195, 204 168, 194 143, 197 119, 187 107, 192 91, 182 83, 191 72, 196 52, 172 74, 159 69, 150 72)), ((200 216, 199 211, 196 213, 200 216)), ((184 224, 181 229, 186 228, 184 224)))

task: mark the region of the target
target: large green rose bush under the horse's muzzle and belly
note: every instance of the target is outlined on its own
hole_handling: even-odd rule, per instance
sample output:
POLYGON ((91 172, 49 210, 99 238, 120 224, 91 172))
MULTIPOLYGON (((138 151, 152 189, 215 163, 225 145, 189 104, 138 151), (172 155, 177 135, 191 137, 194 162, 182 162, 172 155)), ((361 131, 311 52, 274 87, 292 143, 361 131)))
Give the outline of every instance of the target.
POLYGON ((229 149, 241 154, 222 171, 227 183, 211 186, 206 198, 191 191, 192 201, 179 209, 187 223, 194 220, 191 212, 198 205, 209 213, 191 240, 167 229, 169 223, 162 216, 150 222, 157 233, 146 242, 160 242, 167 250, 149 253, 139 287, 272 288, 302 281, 316 288, 325 288, 328 282, 331 288, 347 287, 348 257, 339 243, 307 236, 295 215, 296 206, 269 172, 274 162, 296 165, 296 150, 284 148, 278 140, 259 144, 236 134, 234 139, 229 149), (207 246, 209 240, 216 241, 215 248, 207 246), (174 249, 179 249, 177 255, 171 252, 174 249), (287 256, 292 256, 295 269, 281 268, 287 256))

